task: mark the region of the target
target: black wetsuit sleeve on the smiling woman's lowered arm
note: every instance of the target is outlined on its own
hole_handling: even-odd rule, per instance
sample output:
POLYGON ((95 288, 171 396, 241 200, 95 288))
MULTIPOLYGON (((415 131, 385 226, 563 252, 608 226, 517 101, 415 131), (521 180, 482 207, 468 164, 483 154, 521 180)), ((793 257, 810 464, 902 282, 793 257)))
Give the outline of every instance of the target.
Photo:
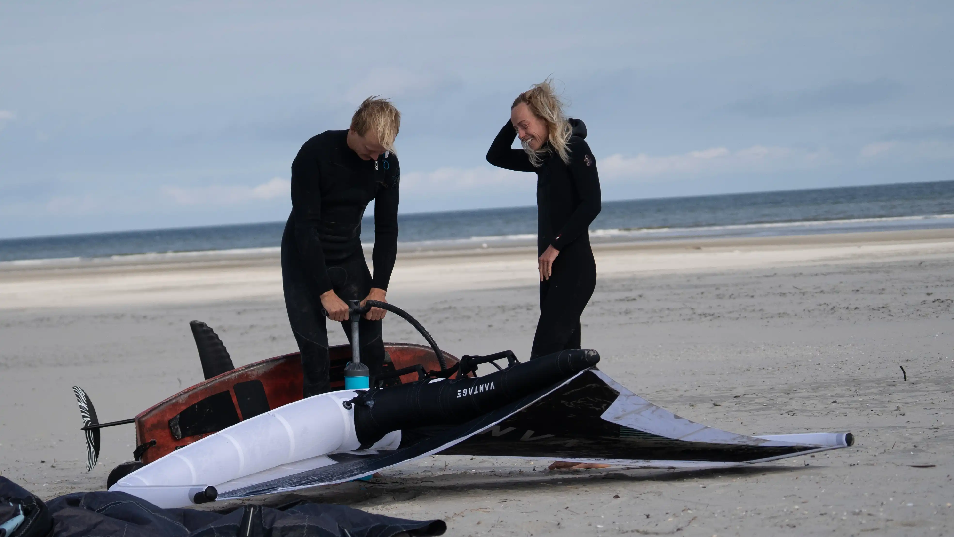
POLYGON ((590 145, 583 138, 573 138, 570 151, 570 180, 580 196, 580 204, 550 243, 557 250, 563 250, 581 234, 588 233, 590 224, 601 208, 599 174, 590 145))

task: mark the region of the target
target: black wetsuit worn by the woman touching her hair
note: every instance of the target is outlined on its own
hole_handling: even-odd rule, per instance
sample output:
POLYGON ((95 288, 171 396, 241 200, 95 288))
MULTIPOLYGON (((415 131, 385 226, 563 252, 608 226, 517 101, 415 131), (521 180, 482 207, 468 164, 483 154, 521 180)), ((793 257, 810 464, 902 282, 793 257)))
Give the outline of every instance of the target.
POLYGON ((570 119, 570 164, 550 152, 539 168, 529 155, 511 149, 516 131, 508 121, 487 151, 487 162, 537 175, 537 256, 552 245, 560 254, 550 279, 540 282, 540 320, 530 358, 580 348, 580 315, 596 286, 596 263, 590 247, 590 223, 600 211, 599 176, 586 125, 570 119))

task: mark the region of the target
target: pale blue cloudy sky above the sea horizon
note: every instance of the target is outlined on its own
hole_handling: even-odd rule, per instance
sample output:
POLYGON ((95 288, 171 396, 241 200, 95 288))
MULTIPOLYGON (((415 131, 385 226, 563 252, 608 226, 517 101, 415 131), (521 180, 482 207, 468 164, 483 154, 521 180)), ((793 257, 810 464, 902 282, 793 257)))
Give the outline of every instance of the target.
POLYGON ((531 205, 484 155, 552 74, 604 199, 954 179, 950 2, 0 3, 0 238, 282 220, 391 97, 404 213, 531 205))

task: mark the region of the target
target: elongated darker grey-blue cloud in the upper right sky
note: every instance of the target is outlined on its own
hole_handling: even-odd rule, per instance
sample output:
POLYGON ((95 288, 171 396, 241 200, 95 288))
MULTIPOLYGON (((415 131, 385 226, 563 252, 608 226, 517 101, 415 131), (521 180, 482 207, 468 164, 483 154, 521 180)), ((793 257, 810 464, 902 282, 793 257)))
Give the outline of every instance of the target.
POLYGON ((736 101, 729 108, 753 117, 812 114, 881 103, 902 93, 904 87, 887 78, 871 82, 843 81, 799 92, 762 93, 736 101))

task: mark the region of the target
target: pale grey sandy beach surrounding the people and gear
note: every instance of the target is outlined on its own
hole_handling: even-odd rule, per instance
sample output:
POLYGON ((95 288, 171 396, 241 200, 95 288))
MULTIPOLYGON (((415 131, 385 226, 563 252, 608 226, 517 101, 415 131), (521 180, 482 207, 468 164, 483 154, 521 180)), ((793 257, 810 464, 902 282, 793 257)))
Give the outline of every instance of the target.
MULTIPOLYGON (((435 456, 309 495, 451 535, 951 533, 954 233, 617 244, 597 262, 583 339, 614 379, 701 423, 850 430, 855 447, 721 471, 435 456)), ((526 356, 533 254, 403 255, 388 298, 451 353, 526 356)), ((295 349, 274 255, 0 266, 0 472, 43 498, 102 488, 132 428, 105 430, 86 473, 70 386, 112 421, 198 382, 192 319, 237 364, 295 349)))

